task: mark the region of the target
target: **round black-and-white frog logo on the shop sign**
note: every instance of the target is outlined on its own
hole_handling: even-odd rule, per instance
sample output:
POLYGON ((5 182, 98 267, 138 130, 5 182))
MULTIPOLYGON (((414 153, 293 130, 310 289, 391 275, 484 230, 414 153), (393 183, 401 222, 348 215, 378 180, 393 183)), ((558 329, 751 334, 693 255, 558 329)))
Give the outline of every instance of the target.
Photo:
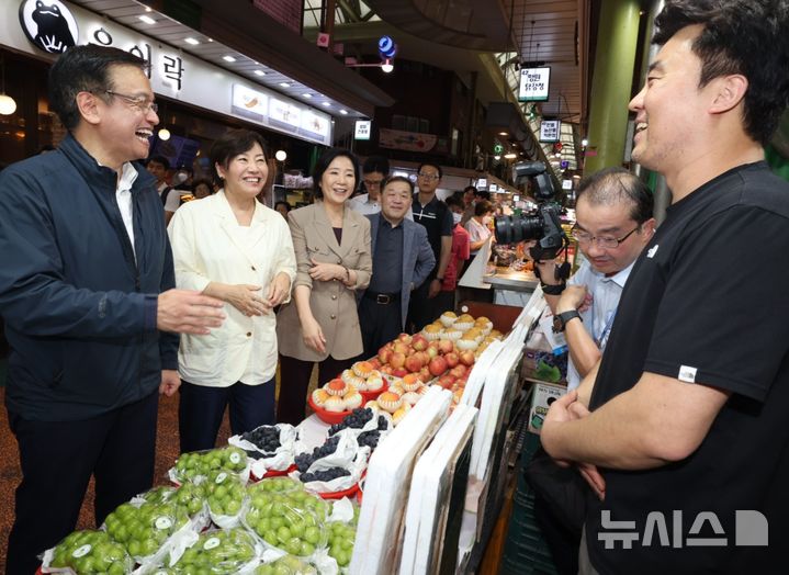
POLYGON ((61 54, 79 40, 77 20, 60 0, 23 0, 19 21, 27 40, 49 54, 61 54))

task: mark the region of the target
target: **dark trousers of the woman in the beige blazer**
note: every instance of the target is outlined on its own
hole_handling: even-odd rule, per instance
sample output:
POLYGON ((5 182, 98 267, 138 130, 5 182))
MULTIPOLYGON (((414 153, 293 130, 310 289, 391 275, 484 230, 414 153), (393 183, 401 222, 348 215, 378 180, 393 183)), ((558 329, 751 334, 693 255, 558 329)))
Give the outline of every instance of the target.
MULTIPOLYGON (((353 363, 354 358, 337 360, 329 356, 318 362, 318 385, 337 377, 353 363)), ((304 419, 309 377, 314 361, 302 361, 280 356, 280 401, 277 403, 277 421, 297 426, 304 419)))

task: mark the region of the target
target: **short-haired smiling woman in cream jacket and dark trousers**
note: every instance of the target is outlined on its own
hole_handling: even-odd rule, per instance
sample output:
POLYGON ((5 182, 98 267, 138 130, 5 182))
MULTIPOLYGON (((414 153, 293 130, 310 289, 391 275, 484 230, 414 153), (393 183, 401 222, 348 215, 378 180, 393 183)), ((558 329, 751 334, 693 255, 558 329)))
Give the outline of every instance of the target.
POLYGON ((170 221, 176 283, 226 302, 206 336, 181 336, 181 451, 211 449, 229 404, 230 429, 274 422, 277 318, 296 266, 288 224, 256 200, 268 167, 255 132, 229 132, 211 150, 224 188, 181 206, 170 221))

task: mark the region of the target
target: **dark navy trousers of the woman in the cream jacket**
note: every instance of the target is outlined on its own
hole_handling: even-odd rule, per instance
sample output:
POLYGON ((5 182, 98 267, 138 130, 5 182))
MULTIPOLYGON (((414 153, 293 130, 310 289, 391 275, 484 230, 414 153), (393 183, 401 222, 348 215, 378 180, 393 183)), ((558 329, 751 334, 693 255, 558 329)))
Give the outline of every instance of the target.
POLYGON ((274 387, 273 377, 260 385, 236 382, 229 387, 208 387, 182 382, 178 402, 181 453, 214 449, 225 407, 228 405, 230 431, 234 436, 262 425, 273 425, 274 387))

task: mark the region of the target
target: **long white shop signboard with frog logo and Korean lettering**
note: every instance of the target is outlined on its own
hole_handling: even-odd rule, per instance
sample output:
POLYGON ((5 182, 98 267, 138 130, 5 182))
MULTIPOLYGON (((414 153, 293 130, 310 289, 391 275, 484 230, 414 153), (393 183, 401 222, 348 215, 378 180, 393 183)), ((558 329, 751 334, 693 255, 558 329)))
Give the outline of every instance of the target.
POLYGON ((331 145, 329 114, 65 0, 0 2, 0 38, 1 44, 36 57, 55 57, 69 45, 121 48, 150 63, 147 74, 159 95, 331 145))

